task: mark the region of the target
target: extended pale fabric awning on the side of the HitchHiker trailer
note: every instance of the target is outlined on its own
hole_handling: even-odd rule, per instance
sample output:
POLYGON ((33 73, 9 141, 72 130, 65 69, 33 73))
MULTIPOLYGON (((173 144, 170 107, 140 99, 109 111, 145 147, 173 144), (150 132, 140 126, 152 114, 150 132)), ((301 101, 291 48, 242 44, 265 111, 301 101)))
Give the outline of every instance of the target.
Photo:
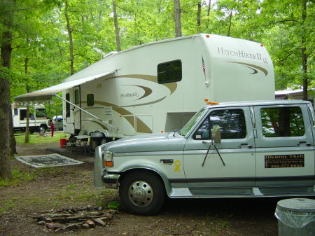
POLYGON ((102 78, 104 76, 109 76, 116 73, 115 71, 105 72, 102 74, 97 74, 94 76, 88 76, 84 78, 78 78, 73 81, 66 81, 64 83, 59 83, 58 85, 53 85, 48 88, 43 88, 42 90, 36 90, 34 92, 26 93, 25 95, 20 95, 14 98, 15 102, 38 102, 38 101, 47 101, 52 99, 52 96, 55 96, 57 92, 62 92, 68 88, 74 88, 83 83, 94 81, 94 79, 102 78))

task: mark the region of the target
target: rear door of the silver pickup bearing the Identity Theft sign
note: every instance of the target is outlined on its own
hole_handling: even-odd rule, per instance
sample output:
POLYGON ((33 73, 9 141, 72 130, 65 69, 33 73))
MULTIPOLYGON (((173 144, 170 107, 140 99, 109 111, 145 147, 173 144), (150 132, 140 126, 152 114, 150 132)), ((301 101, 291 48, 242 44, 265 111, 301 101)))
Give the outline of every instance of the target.
POLYGON ((267 186, 314 186, 314 142, 307 106, 255 106, 254 111, 257 186, 262 193, 267 186))

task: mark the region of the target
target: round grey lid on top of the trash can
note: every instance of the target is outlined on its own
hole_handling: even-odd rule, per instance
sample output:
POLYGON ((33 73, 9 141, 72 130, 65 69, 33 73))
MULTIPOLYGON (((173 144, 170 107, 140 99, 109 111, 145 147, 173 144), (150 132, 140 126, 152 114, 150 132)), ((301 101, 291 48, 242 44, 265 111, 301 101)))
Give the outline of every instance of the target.
POLYGON ((309 198, 290 198, 279 201, 276 207, 281 210, 311 213, 315 212, 315 200, 309 198))

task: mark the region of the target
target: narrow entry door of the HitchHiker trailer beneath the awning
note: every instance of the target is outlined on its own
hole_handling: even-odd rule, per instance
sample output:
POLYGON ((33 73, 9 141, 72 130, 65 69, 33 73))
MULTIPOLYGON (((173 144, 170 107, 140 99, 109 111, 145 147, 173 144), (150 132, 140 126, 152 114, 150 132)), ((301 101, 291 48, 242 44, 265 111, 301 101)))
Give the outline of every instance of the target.
MULTIPOLYGON (((66 90, 64 99, 73 103, 73 90, 66 90)), ((74 134, 74 113, 73 106, 68 102, 64 102, 64 132, 67 134, 74 134)))

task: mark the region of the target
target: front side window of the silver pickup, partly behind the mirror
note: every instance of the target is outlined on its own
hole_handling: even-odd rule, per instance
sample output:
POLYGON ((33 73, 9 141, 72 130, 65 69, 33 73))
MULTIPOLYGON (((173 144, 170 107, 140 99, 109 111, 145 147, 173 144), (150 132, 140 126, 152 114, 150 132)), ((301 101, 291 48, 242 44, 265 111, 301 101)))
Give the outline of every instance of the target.
POLYGON ((216 110, 200 125, 193 139, 211 139, 211 128, 219 125, 221 139, 244 139, 246 137, 246 121, 241 109, 216 110))

